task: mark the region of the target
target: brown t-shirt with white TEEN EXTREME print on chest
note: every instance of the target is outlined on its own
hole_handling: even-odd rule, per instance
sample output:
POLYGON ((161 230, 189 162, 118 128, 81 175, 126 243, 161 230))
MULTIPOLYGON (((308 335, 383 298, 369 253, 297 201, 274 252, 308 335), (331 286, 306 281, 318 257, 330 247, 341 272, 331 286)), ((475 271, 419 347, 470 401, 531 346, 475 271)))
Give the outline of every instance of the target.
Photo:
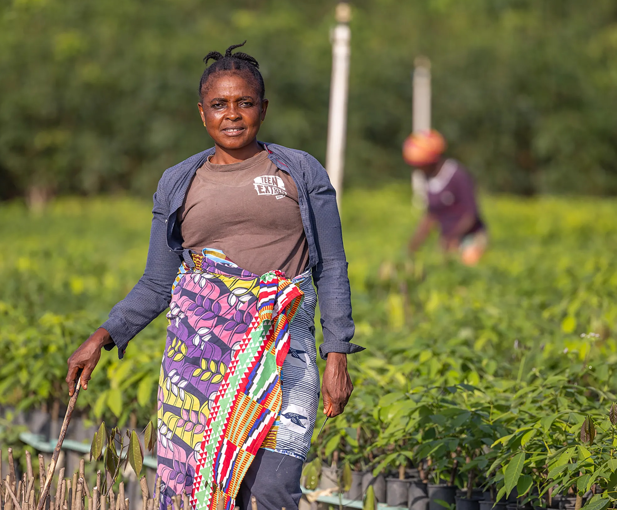
POLYGON ((221 250, 255 274, 280 269, 294 278, 309 264, 296 184, 265 150, 231 165, 205 162, 178 221, 184 248, 221 250))

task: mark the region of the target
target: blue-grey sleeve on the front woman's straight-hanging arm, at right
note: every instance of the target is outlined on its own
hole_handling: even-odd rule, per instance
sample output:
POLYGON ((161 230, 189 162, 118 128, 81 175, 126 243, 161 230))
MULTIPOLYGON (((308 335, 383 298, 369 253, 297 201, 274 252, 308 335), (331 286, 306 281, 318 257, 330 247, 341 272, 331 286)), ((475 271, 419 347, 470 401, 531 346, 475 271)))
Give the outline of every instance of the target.
POLYGON ((305 180, 318 253, 313 282, 317 288, 323 329, 319 352, 325 359, 331 352, 352 354, 364 350, 364 347, 350 341, 354 337, 354 320, 336 192, 326 170, 310 154, 307 154, 307 167, 305 180))

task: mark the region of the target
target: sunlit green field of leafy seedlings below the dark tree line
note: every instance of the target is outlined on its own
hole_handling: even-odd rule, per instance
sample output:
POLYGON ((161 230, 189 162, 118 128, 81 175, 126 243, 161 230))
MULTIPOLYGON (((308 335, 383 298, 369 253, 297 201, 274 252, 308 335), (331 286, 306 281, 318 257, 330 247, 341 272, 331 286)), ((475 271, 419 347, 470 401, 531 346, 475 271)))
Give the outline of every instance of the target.
MULTIPOLYGON (((39 214, 19 203, 0 206, 0 405, 65 400, 67 356, 141 276, 150 208, 121 197, 60 199, 39 214)), ((514 483, 529 477, 541 491, 546 477, 535 477, 537 467, 577 444, 587 415, 597 426, 595 444, 610 440, 617 204, 491 196, 482 208, 490 249, 467 268, 445 258, 435 238, 415 260, 405 257, 419 215, 406 186, 345 195, 355 342, 367 349, 350 361, 356 390, 316 442, 320 458, 338 450, 350 465, 386 470, 435 458, 439 479, 449 476, 450 451, 463 463, 473 459, 465 469, 478 480, 505 487, 508 462, 523 454, 514 483), (537 434, 521 441, 532 429, 537 434), (486 453, 482 445, 500 437, 507 439, 486 453)), ((165 326, 160 316, 123 361, 115 352, 102 356, 80 396, 82 413, 108 424, 131 413, 139 422, 153 416, 165 326)), ((605 454, 598 462, 612 458, 612 450, 608 460, 605 454)), ((576 466, 594 472, 586 469, 576 466)))

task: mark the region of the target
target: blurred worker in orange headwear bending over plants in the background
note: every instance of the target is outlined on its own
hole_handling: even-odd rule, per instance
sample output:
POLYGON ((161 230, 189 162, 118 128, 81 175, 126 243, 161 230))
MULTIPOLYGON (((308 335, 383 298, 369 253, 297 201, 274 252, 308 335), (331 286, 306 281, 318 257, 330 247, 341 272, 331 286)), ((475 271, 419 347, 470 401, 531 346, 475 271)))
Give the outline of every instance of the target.
POLYGON ((428 209, 409 242, 414 253, 426 240, 435 224, 441 229, 445 251, 460 252, 466 265, 475 265, 486 250, 486 226, 476 202, 473 179, 463 165, 444 158, 445 141, 437 131, 412 133, 405 140, 405 162, 418 168, 414 173, 414 192, 422 194, 428 209))

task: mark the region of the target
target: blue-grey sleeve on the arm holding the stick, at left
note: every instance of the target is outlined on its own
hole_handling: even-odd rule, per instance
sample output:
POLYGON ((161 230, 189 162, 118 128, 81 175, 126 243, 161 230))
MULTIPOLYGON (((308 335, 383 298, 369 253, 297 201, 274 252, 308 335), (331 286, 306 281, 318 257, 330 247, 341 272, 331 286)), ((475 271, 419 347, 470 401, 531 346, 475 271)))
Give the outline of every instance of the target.
MULTIPOLYGON (((109 331, 120 358, 128 342, 169 306, 172 284, 181 263, 180 256, 167 246, 168 207, 158 198, 165 196, 161 189, 162 182, 163 179, 153 197, 150 244, 144 274, 128 295, 112 308, 109 319, 101 326, 109 331)), ((113 347, 110 344, 108 350, 113 347)))

